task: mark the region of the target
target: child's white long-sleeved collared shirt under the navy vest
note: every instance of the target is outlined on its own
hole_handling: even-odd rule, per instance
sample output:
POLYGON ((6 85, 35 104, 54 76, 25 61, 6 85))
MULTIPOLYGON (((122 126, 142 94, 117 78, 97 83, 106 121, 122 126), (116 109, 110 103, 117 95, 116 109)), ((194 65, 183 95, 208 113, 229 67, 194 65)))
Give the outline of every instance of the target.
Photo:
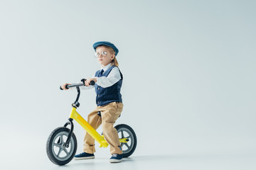
MULTIPOLYGON (((107 69, 110 69, 111 66, 112 65, 110 63, 110 64, 107 64, 106 66, 102 66, 101 69, 103 69, 104 72, 106 72, 107 69)), ((119 72, 119 69, 117 67, 114 67, 111 70, 110 74, 107 75, 107 77, 104 77, 104 76, 102 76, 102 77, 95 77, 95 76, 93 76, 92 78, 96 78, 97 79, 96 84, 98 86, 102 86, 103 88, 107 88, 109 86, 112 86, 112 85, 116 84, 117 81, 119 81, 121 79, 121 74, 119 72)), ((81 86, 80 89, 85 90, 85 89, 92 89, 94 87, 95 86, 81 86)))

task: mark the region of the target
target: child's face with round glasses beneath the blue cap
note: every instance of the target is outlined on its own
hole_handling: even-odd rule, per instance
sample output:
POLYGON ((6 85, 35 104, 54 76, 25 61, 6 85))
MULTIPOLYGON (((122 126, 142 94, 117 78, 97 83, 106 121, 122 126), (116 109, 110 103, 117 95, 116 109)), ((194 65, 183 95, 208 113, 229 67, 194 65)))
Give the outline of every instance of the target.
POLYGON ((110 62, 114 59, 114 54, 112 54, 112 52, 106 47, 97 47, 96 52, 98 52, 99 55, 97 60, 103 66, 110 64, 110 62))

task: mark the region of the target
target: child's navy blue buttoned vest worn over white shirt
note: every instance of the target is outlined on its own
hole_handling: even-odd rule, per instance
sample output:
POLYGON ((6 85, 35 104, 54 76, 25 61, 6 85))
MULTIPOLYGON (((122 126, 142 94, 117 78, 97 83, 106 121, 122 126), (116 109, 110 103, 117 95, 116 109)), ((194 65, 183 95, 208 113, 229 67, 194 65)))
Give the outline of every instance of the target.
MULTIPOLYGON (((117 66, 110 67, 110 69, 107 69, 105 72, 103 72, 103 74, 101 74, 100 70, 98 70, 95 73, 95 77, 107 77, 114 67, 117 67, 117 66)), ((120 74, 121 74, 121 79, 119 79, 119 81, 117 81, 117 83, 113 84, 112 86, 103 88, 102 86, 98 86, 97 83, 95 84, 95 91, 97 95, 96 96, 97 106, 104 106, 114 101, 122 102, 122 95, 120 94, 120 91, 121 91, 123 77, 121 72, 120 74)))

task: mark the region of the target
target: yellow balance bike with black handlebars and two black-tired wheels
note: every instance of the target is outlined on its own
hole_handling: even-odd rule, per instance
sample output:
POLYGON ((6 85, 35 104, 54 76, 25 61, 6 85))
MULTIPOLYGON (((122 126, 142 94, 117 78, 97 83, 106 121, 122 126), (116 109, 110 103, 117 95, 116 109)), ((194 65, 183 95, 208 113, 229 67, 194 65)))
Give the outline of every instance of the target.
MULTIPOLYGON (((75 102, 72 104, 72 110, 70 113, 70 118, 68 118, 68 122, 65 123, 63 127, 56 128, 51 132, 50 136, 48 137, 47 144, 46 144, 46 152, 48 158, 51 162, 58 165, 65 165, 70 162, 77 150, 77 140, 75 134, 73 133, 74 125, 73 120, 76 120, 82 128, 84 128, 97 142, 99 142, 100 147, 107 147, 108 143, 104 139, 104 135, 100 135, 92 126, 87 123, 87 121, 82 118, 82 116, 76 111, 76 109, 80 106, 78 103, 78 99, 80 97, 80 88, 79 86, 85 86, 84 84, 85 79, 82 79, 82 83, 80 84, 71 84, 67 85, 66 88, 76 87, 78 91, 78 96, 75 102), (70 125, 70 128, 67 126, 70 125)), ((94 85, 95 82, 91 81, 90 85, 94 85)), ((60 87, 61 90, 63 90, 60 87)), ((101 116, 101 113, 98 113, 101 116)), ((119 141, 122 146, 122 156, 129 157, 134 152, 137 146, 137 137, 135 135, 134 130, 132 130, 129 125, 116 125, 114 128, 117 129, 117 133, 119 135, 119 141)))

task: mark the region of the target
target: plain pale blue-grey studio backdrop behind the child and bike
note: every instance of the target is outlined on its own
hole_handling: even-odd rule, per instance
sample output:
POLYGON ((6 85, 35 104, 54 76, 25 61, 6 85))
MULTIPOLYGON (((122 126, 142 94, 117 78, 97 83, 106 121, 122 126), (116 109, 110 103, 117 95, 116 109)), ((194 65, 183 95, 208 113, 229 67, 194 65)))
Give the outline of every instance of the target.
MULTIPOLYGON (((11 169, 18 154, 21 162, 51 164, 47 137, 67 121, 76 96, 58 88, 100 69, 92 48, 100 40, 119 48, 117 124, 137 133, 134 156, 255 153, 255 5, 0 1, 1 162, 11 169)), ((95 91, 82 91, 80 105, 86 118, 95 91)), ((78 123, 75 135, 82 152, 78 123)), ((110 156, 109 149, 96 154, 110 156)))

